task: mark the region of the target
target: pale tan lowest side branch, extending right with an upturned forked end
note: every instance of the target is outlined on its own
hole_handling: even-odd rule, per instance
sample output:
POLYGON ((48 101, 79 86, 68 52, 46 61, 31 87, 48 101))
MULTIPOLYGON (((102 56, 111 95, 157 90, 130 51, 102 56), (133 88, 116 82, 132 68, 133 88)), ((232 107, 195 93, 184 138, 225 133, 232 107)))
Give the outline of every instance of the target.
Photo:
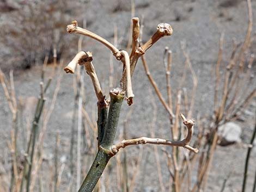
POLYGON ((198 153, 197 148, 191 147, 190 141, 192 139, 193 135, 193 126, 194 126, 194 120, 186 119, 186 117, 182 114, 180 114, 180 117, 184 121, 184 125, 187 127, 188 133, 187 137, 183 140, 180 141, 171 141, 171 140, 166 140, 166 139, 159 139, 159 138, 148 138, 148 137, 141 137, 137 139, 127 139, 121 141, 117 145, 112 146, 112 152, 114 154, 118 153, 120 148, 124 148, 126 146, 130 145, 139 145, 139 144, 155 144, 155 145, 169 145, 169 146, 178 146, 178 147, 184 147, 187 148, 188 150, 198 153))

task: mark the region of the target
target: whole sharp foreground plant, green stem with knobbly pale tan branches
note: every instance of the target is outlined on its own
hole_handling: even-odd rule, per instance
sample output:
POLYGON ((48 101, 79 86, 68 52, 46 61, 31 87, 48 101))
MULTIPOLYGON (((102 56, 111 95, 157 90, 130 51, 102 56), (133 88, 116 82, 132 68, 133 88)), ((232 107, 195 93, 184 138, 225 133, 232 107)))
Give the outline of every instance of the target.
MULTIPOLYGON (((135 71, 137 61, 163 36, 172 35, 173 29, 168 23, 160 23, 157 26, 156 32, 153 34, 153 36, 151 36, 151 38, 144 45, 141 45, 139 41, 139 19, 137 17, 132 18, 132 50, 130 55, 127 53, 127 51, 119 50, 101 36, 96 35, 87 29, 78 27, 77 21, 73 21, 70 25, 68 25, 66 30, 68 33, 86 35, 101 42, 112 51, 117 60, 123 63, 123 74, 121 76, 119 86, 109 92, 110 101, 106 99, 106 96, 101 90, 101 85, 92 63, 93 54, 91 52, 78 52, 74 59, 72 59, 68 66, 66 66, 64 69, 66 73, 74 73, 78 64, 84 65, 86 72, 92 79, 97 97, 98 150, 94 162, 86 178, 84 178, 81 188, 79 189, 80 192, 93 191, 97 181, 99 181, 104 169, 106 168, 107 163, 113 156, 115 156, 115 154, 119 152, 120 148, 125 148, 126 146, 130 145, 156 144, 184 147, 194 153, 198 152, 197 148, 190 146, 195 122, 191 119, 186 119, 186 117, 182 114, 180 114, 180 117, 184 121, 184 125, 187 127, 187 136, 182 140, 178 140, 178 138, 174 138, 174 140, 166 140, 141 137, 136 139, 125 139, 120 141, 118 144, 114 144, 115 133, 118 128, 119 114, 121 112, 121 105, 123 101, 126 100, 127 104, 130 106, 132 104, 132 98, 135 96, 132 90, 131 77, 135 71)), ((168 107, 166 109, 168 110, 168 113, 174 117, 172 111, 168 107)))

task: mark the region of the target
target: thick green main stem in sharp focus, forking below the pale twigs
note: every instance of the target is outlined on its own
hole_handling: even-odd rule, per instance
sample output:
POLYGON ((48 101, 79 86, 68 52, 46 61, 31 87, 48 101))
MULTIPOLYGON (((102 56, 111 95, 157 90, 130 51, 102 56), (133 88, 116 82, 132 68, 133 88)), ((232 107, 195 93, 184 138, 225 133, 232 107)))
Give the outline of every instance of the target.
POLYGON ((113 156, 111 147, 113 145, 115 133, 117 131, 119 114, 121 110, 121 104, 124 100, 124 95, 121 94, 118 89, 113 89, 110 92, 110 96, 111 102, 109 105, 108 116, 106 116, 104 110, 98 108, 101 110, 101 112, 98 113, 99 116, 97 121, 99 128, 99 150, 78 192, 93 191, 97 181, 99 181, 103 171, 105 170, 109 159, 113 156))

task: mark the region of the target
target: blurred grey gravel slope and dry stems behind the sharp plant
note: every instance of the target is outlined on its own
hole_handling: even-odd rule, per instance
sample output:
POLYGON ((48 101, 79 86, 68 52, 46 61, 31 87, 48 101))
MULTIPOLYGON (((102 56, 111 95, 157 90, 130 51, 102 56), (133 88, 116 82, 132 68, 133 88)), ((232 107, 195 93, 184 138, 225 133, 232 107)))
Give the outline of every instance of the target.
MULTIPOLYGON (((164 51, 171 51, 172 109, 196 121, 192 146, 199 153, 178 150, 179 189, 174 189, 172 147, 127 147, 111 159, 95 191, 255 191, 256 2, 248 2, 1 0, 0 191, 77 190, 97 150, 97 100, 82 68, 74 75, 63 68, 80 49, 92 52, 108 98, 123 65, 105 46, 68 34, 66 26, 77 20, 78 26, 130 53, 132 17, 140 19, 141 44, 157 24, 173 27, 173 35, 157 41, 145 59, 167 102, 164 61, 170 53, 164 51)), ((141 59, 132 84, 134 103, 123 103, 116 142, 171 139, 173 124, 141 59)), ((186 129, 177 122, 182 139, 186 129)))

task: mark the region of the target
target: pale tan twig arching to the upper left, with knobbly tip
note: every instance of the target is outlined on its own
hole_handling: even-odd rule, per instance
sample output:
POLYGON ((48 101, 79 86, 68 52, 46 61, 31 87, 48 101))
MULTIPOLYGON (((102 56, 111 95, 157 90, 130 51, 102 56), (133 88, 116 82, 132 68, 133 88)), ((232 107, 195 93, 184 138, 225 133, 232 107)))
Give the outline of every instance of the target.
POLYGON ((86 35, 86 36, 89 36, 90 38, 93 38, 93 39, 101 42, 103 45, 105 45, 107 48, 109 48, 112 51, 112 53, 117 58, 117 60, 121 59, 120 51, 117 49, 117 47, 112 45, 110 42, 108 42, 106 39, 102 38, 101 36, 99 36, 93 32, 90 32, 89 30, 78 27, 77 21, 72 21, 71 24, 69 24, 66 27, 66 31, 68 33, 78 33, 78 34, 86 35))

